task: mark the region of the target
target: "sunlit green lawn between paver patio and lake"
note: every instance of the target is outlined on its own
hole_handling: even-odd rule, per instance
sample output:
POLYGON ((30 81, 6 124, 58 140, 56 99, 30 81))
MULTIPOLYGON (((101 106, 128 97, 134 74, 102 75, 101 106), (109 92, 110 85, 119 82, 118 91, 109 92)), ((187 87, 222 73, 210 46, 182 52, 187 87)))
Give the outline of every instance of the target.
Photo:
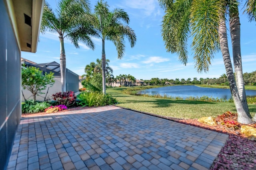
MULTIPOLYGON (((116 97, 116 106, 126 107, 138 111, 154 113, 182 119, 216 117, 226 111, 236 112, 233 103, 195 102, 188 100, 171 100, 123 94, 122 88, 108 88, 106 93, 116 97)), ((249 104, 250 113, 254 116, 256 105, 249 104)))

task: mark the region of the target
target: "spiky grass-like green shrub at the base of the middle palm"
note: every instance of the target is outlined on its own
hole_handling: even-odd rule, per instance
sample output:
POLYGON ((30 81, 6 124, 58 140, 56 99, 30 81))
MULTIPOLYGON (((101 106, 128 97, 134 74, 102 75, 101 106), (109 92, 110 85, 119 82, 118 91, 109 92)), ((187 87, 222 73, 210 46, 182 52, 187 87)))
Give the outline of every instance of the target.
POLYGON ((111 95, 104 95, 102 92, 82 93, 78 96, 79 105, 84 106, 106 106, 117 103, 116 98, 111 95))

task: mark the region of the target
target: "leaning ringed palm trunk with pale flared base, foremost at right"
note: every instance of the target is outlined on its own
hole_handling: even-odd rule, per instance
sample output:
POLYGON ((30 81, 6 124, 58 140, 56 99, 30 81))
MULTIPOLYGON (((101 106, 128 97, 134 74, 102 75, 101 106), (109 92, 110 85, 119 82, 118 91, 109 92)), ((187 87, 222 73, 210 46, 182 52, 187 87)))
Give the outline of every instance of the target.
POLYGON ((219 39, 220 39, 220 50, 222 52, 222 57, 226 69, 226 74, 230 86, 230 91, 232 94, 232 98, 234 100, 234 104, 236 106, 236 111, 238 113, 238 122, 248 124, 252 122, 252 119, 248 117, 246 111, 244 110, 244 107, 242 106, 242 102, 239 97, 238 89, 236 86, 236 81, 234 78, 234 72, 232 68, 232 62, 230 59, 230 53, 228 49, 228 38, 226 33, 226 23, 225 23, 225 17, 220 18, 220 24, 219 24, 219 39))

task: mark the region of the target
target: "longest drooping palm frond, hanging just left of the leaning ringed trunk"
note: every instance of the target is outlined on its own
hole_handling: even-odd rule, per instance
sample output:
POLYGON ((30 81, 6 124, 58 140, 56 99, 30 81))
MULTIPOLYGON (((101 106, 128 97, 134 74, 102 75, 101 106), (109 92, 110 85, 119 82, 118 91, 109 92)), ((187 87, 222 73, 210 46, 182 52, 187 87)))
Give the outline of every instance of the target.
POLYGON ((218 0, 193 1, 191 7, 192 49, 198 72, 208 72, 214 53, 220 49, 218 0))

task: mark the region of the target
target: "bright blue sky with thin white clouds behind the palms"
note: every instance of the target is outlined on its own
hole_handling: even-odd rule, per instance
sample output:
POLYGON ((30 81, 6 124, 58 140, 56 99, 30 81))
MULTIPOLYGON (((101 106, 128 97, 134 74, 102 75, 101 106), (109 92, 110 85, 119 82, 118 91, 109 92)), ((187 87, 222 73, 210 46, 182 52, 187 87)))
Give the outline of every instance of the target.
MULTIPOLYGON (((55 9, 58 0, 48 0, 50 6, 55 9)), ((94 8, 96 0, 91 0, 94 8)), ((151 78, 219 78, 226 73, 221 53, 217 53, 211 61, 209 72, 198 73, 194 68, 193 53, 189 49, 188 64, 184 66, 178 61, 176 53, 167 53, 161 36, 161 21, 164 11, 157 0, 107 0, 110 10, 114 8, 124 9, 129 17, 129 26, 134 29, 137 41, 131 48, 126 39, 125 55, 117 58, 116 47, 111 41, 106 41, 106 59, 110 60, 114 76, 119 74, 131 74, 136 79, 148 80, 151 78)), ((243 72, 255 71, 256 63, 256 23, 248 22, 240 8, 241 22, 241 51, 243 72)), ((22 52, 22 57, 36 63, 60 63, 60 43, 57 34, 40 33, 36 53, 22 52)), ((94 51, 80 43, 76 49, 68 40, 64 39, 66 52, 66 66, 76 74, 84 74, 84 68, 96 59, 101 59, 101 40, 93 38, 96 48, 94 51)), ((230 55, 232 55, 231 43, 230 55)))

